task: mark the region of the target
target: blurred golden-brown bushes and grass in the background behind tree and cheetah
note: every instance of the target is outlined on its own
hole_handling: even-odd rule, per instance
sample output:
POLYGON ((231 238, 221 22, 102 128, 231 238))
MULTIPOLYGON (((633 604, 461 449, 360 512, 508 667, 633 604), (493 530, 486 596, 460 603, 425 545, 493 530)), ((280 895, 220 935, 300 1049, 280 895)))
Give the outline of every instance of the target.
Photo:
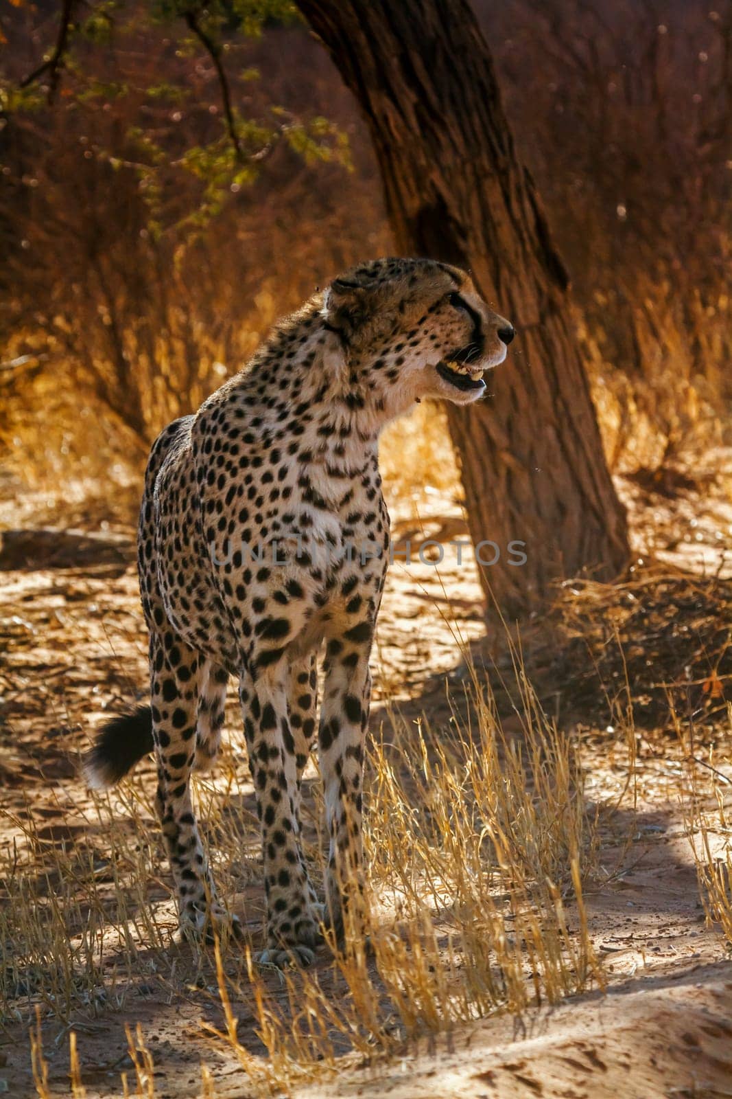
MULTIPOLYGON (((691 467, 732 388, 732 3, 474 7, 610 467, 691 467)), ((26 484, 137 476, 278 315, 392 248, 358 109, 283 0, 11 0, 0 106, 0 441, 26 484)), ((416 415, 399 478, 436 449, 454 477, 441 412, 416 415)))

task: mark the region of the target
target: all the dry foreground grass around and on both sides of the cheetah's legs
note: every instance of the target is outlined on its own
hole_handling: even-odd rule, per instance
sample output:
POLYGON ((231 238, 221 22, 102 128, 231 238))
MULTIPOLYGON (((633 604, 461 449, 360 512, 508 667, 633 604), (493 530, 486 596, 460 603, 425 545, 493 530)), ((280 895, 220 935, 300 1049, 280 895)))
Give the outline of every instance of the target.
MULTIPOLYGON (((103 1011, 124 1011, 150 979, 172 997, 202 988, 202 1002, 211 1007, 215 993, 223 1007, 210 1036, 234 1051, 258 1094, 290 1094, 336 1073, 349 1052, 394 1053, 420 1034, 601 986, 583 902, 595 832, 578 746, 547 720, 520 668, 517 690, 521 728, 510 735, 473 676, 469 719, 455 699, 444 728, 393 713, 374 736, 365 815, 370 951, 360 941, 341 950, 330 943, 333 963, 309 972, 252 966, 257 919, 244 950, 222 942, 213 958, 170 951, 173 904, 147 784, 128 781, 94 800, 83 837, 65 837, 63 829, 49 836, 31 812, 13 818, 16 839, 0 870, 5 1024, 38 1011, 66 1033, 103 1011), (259 1041, 238 1036, 237 1001, 254 1002, 259 1041)), ((246 796, 243 780, 228 751, 222 775, 199 780, 196 795, 222 893, 238 889, 246 898, 260 868, 255 822, 232 810, 246 796)), ((306 828, 316 881, 319 801, 316 786, 306 828)), ((135 1094, 151 1096, 149 1052, 142 1035, 131 1043, 135 1094)), ((44 1096, 40 1032, 33 1050, 44 1096)), ((213 1095, 211 1080, 202 1087, 213 1095)), ((82 1095, 80 1083, 74 1094, 82 1095)))

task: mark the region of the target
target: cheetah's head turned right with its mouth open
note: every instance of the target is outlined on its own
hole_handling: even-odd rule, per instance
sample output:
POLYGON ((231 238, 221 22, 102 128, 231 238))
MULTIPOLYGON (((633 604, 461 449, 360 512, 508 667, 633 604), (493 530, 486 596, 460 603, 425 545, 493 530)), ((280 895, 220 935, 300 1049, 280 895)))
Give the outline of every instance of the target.
POLYGON ((349 384, 387 418, 423 397, 471 404, 514 338, 464 271, 431 259, 360 264, 326 289, 322 315, 344 348, 349 384))

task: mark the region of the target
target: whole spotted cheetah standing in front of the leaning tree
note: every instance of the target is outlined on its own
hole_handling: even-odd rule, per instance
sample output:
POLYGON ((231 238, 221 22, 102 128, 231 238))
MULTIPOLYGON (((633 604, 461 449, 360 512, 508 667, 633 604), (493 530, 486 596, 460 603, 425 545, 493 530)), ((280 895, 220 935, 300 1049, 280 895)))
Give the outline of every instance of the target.
POLYGON ((483 371, 513 337, 462 270, 363 263, 281 321, 239 374, 154 444, 138 534, 150 706, 101 730, 86 774, 109 787, 155 752, 181 932, 210 937, 230 923, 190 789, 192 769, 216 758, 229 676, 261 825, 259 961, 309 964, 323 926, 342 933, 348 906, 361 903, 369 657, 390 547, 379 434, 423 398, 477 400, 483 371), (323 646, 324 904, 300 822, 323 646))

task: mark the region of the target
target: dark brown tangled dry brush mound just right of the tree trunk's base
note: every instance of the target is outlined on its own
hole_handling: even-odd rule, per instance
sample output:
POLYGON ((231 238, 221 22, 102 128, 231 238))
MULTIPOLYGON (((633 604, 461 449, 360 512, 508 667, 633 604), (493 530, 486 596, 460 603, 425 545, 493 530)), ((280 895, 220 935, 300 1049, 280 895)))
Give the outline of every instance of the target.
POLYGON ((563 586, 555 620, 566 643, 548 675, 571 684, 587 718, 644 729, 674 714, 712 725, 732 684, 732 581, 639 565, 619 584, 563 586))

